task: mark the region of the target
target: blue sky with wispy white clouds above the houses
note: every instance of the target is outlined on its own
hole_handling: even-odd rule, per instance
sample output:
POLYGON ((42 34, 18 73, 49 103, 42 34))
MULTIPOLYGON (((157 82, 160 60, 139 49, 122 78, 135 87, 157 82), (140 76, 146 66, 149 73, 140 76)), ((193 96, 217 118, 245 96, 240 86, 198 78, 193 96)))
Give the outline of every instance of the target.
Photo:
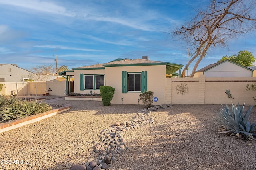
MULTIPOLYGON (((0 63, 76 68, 118 57, 187 63, 187 45, 168 33, 190 21, 209 0, 0 0, 0 63)), ((256 36, 216 47, 198 66, 248 50, 256 36)), ((190 57, 191 58, 191 57, 190 57)), ((194 63, 190 65, 190 71, 194 63)))

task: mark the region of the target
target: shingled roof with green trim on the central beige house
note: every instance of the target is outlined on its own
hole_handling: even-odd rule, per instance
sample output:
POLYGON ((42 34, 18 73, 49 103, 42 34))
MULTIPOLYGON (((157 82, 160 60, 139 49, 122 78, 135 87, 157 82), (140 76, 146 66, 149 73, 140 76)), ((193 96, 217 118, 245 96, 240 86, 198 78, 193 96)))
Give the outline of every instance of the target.
POLYGON ((73 70, 97 70, 97 69, 105 69, 105 67, 120 67, 120 66, 150 66, 150 65, 166 65, 166 74, 172 74, 173 72, 178 71, 183 67, 182 64, 168 63, 162 61, 153 61, 146 59, 116 59, 114 61, 104 63, 104 64, 96 64, 91 66, 83 66, 72 68, 73 70))

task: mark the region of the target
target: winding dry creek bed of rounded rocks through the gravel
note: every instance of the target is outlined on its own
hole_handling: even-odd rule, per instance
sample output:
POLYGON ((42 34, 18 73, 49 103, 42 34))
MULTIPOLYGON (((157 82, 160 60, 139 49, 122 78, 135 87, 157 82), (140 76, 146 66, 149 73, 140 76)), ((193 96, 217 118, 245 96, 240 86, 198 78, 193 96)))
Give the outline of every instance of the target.
POLYGON ((130 147, 126 146, 124 132, 152 123, 154 119, 150 115, 151 112, 170 106, 163 104, 143 109, 131 121, 118 122, 112 125, 112 127, 103 129, 99 135, 99 141, 93 141, 95 146, 90 159, 85 165, 74 165, 70 170, 108 169, 109 164, 116 161, 116 157, 122 156, 125 150, 130 150, 130 147))

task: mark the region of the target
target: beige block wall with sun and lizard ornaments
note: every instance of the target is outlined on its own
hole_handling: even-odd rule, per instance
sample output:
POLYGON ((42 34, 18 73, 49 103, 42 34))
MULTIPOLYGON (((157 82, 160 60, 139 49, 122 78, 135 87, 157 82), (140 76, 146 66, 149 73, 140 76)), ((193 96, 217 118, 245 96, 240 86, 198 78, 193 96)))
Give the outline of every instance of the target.
POLYGON ((256 91, 246 91, 256 77, 166 78, 166 104, 243 104, 254 105, 256 91), (232 98, 228 98, 230 90, 232 98))

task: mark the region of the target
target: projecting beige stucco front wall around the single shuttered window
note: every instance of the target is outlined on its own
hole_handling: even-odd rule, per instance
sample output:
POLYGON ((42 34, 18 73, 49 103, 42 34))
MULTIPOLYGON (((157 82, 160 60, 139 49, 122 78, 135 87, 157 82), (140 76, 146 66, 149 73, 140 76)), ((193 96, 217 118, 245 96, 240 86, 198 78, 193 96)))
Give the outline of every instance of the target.
MULTIPOLYGON (((124 98, 123 104, 138 104, 138 98, 141 92, 122 93, 122 71, 142 72, 147 71, 147 90, 154 92, 158 97, 158 102, 154 104, 165 103, 165 86, 166 86, 166 66, 126 66, 126 67, 106 67, 106 86, 116 89, 113 104, 122 104, 121 98, 124 98)), ((140 101, 139 104, 142 104, 140 101)))

